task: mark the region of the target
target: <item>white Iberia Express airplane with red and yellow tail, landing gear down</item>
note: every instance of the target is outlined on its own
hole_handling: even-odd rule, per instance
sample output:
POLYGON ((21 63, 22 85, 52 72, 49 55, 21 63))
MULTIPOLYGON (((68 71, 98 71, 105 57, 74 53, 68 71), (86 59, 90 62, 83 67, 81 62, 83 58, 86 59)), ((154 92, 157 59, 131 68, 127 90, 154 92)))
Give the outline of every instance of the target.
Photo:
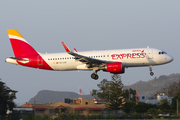
POLYGON ((112 74, 123 74, 125 68, 152 66, 173 61, 165 51, 155 48, 117 49, 102 51, 74 52, 62 42, 65 53, 42 54, 37 52, 16 29, 7 29, 15 57, 7 57, 5 62, 37 69, 70 71, 92 70, 91 78, 97 80, 97 72, 102 70, 112 74))

